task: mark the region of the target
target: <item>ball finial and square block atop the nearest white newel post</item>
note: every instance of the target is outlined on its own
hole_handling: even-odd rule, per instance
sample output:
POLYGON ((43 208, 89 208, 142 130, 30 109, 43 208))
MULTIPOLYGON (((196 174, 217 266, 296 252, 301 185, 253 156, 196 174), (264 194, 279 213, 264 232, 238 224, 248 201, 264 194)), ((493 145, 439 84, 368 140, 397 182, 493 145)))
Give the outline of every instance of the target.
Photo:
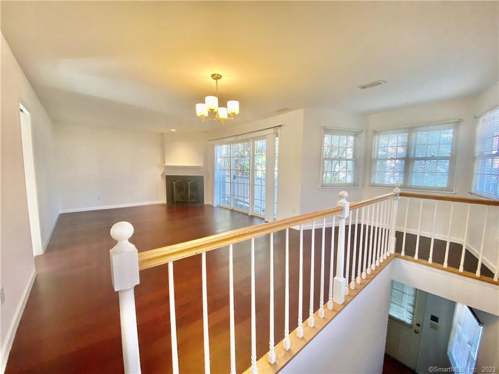
POLYGON ((111 227, 111 237, 118 241, 109 250, 111 280, 115 291, 126 290, 139 284, 139 254, 128 239, 133 235, 130 222, 118 222, 111 227))

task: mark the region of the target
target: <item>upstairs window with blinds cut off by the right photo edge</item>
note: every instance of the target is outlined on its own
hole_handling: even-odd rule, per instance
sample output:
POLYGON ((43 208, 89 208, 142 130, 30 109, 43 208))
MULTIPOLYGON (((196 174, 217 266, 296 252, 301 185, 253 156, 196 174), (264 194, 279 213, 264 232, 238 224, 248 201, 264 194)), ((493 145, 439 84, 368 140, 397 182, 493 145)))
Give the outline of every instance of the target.
POLYGON ((477 127, 472 191, 499 199, 499 108, 484 114, 477 127))

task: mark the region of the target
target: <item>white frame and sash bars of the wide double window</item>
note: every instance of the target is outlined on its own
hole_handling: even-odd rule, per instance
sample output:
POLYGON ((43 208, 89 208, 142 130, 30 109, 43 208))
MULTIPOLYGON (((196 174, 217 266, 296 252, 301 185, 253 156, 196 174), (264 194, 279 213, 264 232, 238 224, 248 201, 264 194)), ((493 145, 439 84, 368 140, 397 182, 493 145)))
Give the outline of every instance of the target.
MULTIPOLYGON (((411 136, 408 136, 408 139, 407 139, 407 150, 406 150, 406 157, 405 158, 387 158, 387 160, 405 160, 406 162, 404 162, 404 182, 403 184, 401 185, 400 189, 401 190, 407 190, 407 191, 421 191, 421 192, 428 192, 428 191, 434 191, 434 192, 439 192, 439 193, 452 193, 452 194, 455 194, 456 193, 456 183, 457 183, 457 171, 458 171, 458 167, 459 167, 459 163, 458 163, 458 146, 459 146, 459 142, 458 142, 458 139, 459 139, 459 123, 460 123, 460 119, 458 120, 453 120, 453 121, 445 121, 445 122, 437 122, 437 123, 431 123, 431 124, 425 124, 425 125, 421 125, 421 126, 405 126, 405 127, 394 127, 392 129, 380 129, 380 130, 373 130, 373 136, 372 136, 372 142, 371 142, 371 162, 370 162, 370 168, 369 168, 369 175, 368 175, 368 179, 369 179, 369 184, 368 184, 368 187, 369 188, 393 188, 392 185, 383 185, 383 184, 376 184, 376 183, 373 183, 372 181, 372 176, 373 176, 373 168, 374 168, 374 160, 380 160, 378 158, 374 158, 374 152, 375 152, 375 147, 374 147, 374 141, 375 141, 375 137, 377 134, 380 134, 380 133, 389 133, 389 132, 402 132, 404 130, 407 129, 407 132, 411 133, 414 132, 414 131, 417 131, 418 129, 425 129, 425 128, 435 128, 435 127, 439 127, 439 126, 451 126, 453 125, 454 126, 454 129, 455 129, 455 133, 453 134, 453 139, 452 139, 452 148, 451 148, 451 156, 449 157, 449 174, 450 174, 450 171, 451 169, 454 169, 454 178, 450 184, 449 187, 446 187, 446 188, 442 188, 442 187, 422 187, 422 186, 417 186, 417 187, 410 187, 408 182, 410 181, 411 179, 411 171, 410 171, 410 165, 411 165, 411 161, 414 162, 414 160, 416 158, 414 157, 409 157, 409 154, 410 154, 410 143, 412 141, 411 139, 411 136), (451 163, 454 162, 454 167, 451 166, 451 163)), ((423 160, 423 159, 430 159, 430 160, 435 160, 436 158, 433 158, 433 157, 427 157, 427 158, 421 158, 421 157, 418 157, 417 158, 418 160, 423 160)), ((444 159, 447 159, 447 157, 445 157, 444 159)))

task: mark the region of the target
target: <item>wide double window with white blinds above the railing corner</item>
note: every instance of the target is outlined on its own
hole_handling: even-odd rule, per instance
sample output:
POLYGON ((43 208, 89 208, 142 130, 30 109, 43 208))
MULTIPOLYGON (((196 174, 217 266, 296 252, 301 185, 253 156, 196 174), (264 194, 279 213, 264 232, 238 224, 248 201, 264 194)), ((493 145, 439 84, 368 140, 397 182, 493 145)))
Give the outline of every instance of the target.
POLYGON ((371 186, 454 190, 457 122, 375 131, 371 186))

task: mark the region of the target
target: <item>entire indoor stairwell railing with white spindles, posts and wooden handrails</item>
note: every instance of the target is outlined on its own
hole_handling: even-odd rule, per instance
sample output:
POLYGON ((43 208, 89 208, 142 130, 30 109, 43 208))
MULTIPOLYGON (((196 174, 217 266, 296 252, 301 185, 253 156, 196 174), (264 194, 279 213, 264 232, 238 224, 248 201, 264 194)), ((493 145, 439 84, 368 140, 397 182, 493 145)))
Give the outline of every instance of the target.
MULTIPOLYGON (((133 234, 133 226, 128 222, 118 222, 111 228, 111 236, 118 241, 116 246, 111 249, 111 269, 114 290, 119 292, 122 348, 125 373, 140 373, 140 357, 137 339, 137 323, 135 315, 134 287, 139 284, 139 271, 155 266, 168 264, 168 286, 170 298, 170 326, 171 326, 171 346, 172 346, 172 367, 174 373, 179 373, 178 352, 177 352, 177 332, 175 316, 175 289, 174 289, 174 263, 175 261, 201 254, 202 263, 202 292, 203 292, 203 330, 204 330, 204 360, 205 373, 210 373, 210 350, 209 350, 209 325, 208 325, 208 303, 207 303, 207 277, 206 277, 206 252, 229 247, 229 292, 230 292, 230 370, 236 373, 236 339, 234 323, 234 272, 233 272, 233 245, 239 242, 248 241, 250 245, 250 268, 251 268, 251 366, 250 372, 257 373, 256 357, 256 311, 255 311, 255 238, 268 235, 269 238, 269 262, 270 262, 270 310, 269 310, 269 351, 267 355, 268 363, 274 365, 276 361, 274 345, 274 284, 273 284, 273 234, 280 230, 285 230, 285 306, 284 306, 284 339, 282 347, 285 351, 291 348, 289 331, 289 229, 299 227, 299 274, 298 274, 298 325, 294 334, 299 339, 303 339, 304 325, 313 328, 314 316, 324 318, 324 303, 329 310, 333 309, 333 303, 343 304, 345 295, 349 290, 355 289, 356 285, 361 284, 368 274, 376 270, 390 255, 395 254, 396 248, 396 222, 398 213, 398 201, 401 196, 416 199, 435 199, 434 220, 437 216, 437 201, 449 200, 468 204, 485 204, 487 211, 490 205, 499 205, 499 202, 481 199, 452 198, 434 195, 422 195, 414 193, 401 193, 398 185, 391 193, 386 193, 374 198, 362 200, 354 203, 347 201, 348 194, 345 191, 340 192, 340 199, 337 206, 312 213, 301 214, 274 222, 262 223, 255 226, 211 235, 200 239, 191 240, 185 243, 170 245, 167 247, 137 252, 137 249, 128 239, 133 234), (336 219, 338 223, 336 224, 336 219), (347 223, 348 220, 348 223, 347 223), (320 301, 318 311, 314 310, 314 248, 315 248, 315 229, 318 221, 321 227, 321 263, 320 263, 320 301), (354 222, 352 235, 352 221, 354 222), (303 226, 311 222, 311 265, 310 280, 303 279, 303 226), (360 224, 358 224, 360 223, 360 224), (348 224, 348 234, 345 234, 345 226, 348 224), (335 226, 338 225, 338 234, 335 238, 335 226), (331 245, 326 248, 325 232, 326 227, 332 227, 331 245), (358 232, 360 230, 360 233, 358 232), (359 235, 358 235, 359 234, 359 235), (351 246, 353 236, 353 247, 351 246), (358 239, 358 240, 357 240, 358 239), (350 251, 353 251, 352 256, 350 251), (325 251, 330 251, 330 262, 325 263, 325 251), (336 252, 336 253, 335 253, 336 252), (336 254, 336 256, 335 256, 336 254), (350 258, 352 261, 350 262, 350 258), (334 272, 333 269, 336 269, 334 272), (333 277, 333 274, 336 274, 333 277), (328 278, 328 289, 324 290, 325 277, 328 278), (309 315, 306 324, 303 323, 303 287, 310 287, 309 315), (317 312, 317 313, 316 313, 317 312)), ((401 256, 405 256, 405 241, 407 233, 407 212, 405 213, 405 228, 403 232, 403 243, 401 256)), ((418 259, 418 248, 420 239, 420 227, 422 216, 422 202, 420 202, 419 227, 416 241, 414 259, 418 259)), ((468 210, 469 211, 469 210, 468 210)), ((467 217, 467 229, 468 229, 467 217)), ((485 217, 487 221, 487 215, 485 217)), ((452 225, 452 213, 451 222, 452 225)), ((434 225, 435 226, 435 225, 434 225)), ((450 232, 450 229, 449 229, 450 232)), ((484 224, 485 235, 485 224, 484 224)), ((466 233, 465 233, 466 236, 466 233)), ((449 241, 443 267, 447 267, 449 254, 449 241)), ((431 248, 433 249, 434 236, 432 236, 431 248)), ((466 240, 464 241, 466 243, 466 240)), ((428 263, 432 263, 432 249, 430 249, 430 258, 428 263)), ((461 262, 464 262, 464 253, 466 245, 463 246, 463 255, 461 262)), ((483 244, 480 251, 480 257, 483 252, 483 244)), ((407 257, 407 256, 406 256, 407 257)), ((499 259, 498 259, 499 262, 499 259)), ((481 258, 476 276, 480 277, 481 258)), ((463 272, 462 267, 459 271, 463 272)), ((326 278, 326 279, 327 279, 326 278)), ((496 267, 494 281, 498 280, 498 268, 496 267)), ((306 301, 305 301, 306 302, 306 301)), ((305 326, 305 328, 306 328, 305 326)))

